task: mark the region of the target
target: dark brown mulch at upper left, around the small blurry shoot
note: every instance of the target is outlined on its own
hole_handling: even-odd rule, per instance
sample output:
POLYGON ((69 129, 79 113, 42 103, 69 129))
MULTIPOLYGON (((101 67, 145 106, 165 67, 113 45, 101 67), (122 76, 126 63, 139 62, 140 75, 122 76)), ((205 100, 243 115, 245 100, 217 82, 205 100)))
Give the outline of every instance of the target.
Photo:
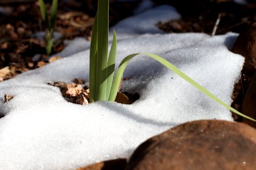
MULTIPOLYGON (((51 1, 45 2, 49 9, 51 1)), ((138 2, 110 3, 110 26, 130 16, 137 5, 138 2)), ((6 9, 6 14, 0 14, 0 69, 9 67, 10 70, 9 74, 1 76, 1 81, 48 62, 44 41, 32 36, 46 29, 38 1, 0 1, 0 6, 6 9), (38 61, 32 61, 35 54, 41 54, 38 61)), ((55 29, 63 37, 53 45, 52 54, 64 49, 64 40, 77 36, 90 39, 96 7, 96 1, 59 1, 55 29)))

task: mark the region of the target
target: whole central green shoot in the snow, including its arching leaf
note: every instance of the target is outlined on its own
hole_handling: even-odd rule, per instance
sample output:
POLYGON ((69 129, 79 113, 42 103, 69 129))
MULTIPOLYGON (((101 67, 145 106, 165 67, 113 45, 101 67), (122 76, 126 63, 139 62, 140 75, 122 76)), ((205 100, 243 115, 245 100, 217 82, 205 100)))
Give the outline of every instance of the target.
MULTIPOLYGON (((90 102, 94 101, 114 101, 117 96, 119 84, 122 79, 123 71, 130 59, 139 54, 146 55, 148 57, 154 58, 156 61, 162 63, 168 69, 174 71, 181 78, 185 79, 192 86, 199 89, 205 95, 208 95, 211 99, 217 103, 228 108, 230 111, 245 117, 249 120, 256 121, 251 117, 238 112, 236 109, 225 104, 223 101, 218 99, 215 95, 210 93, 200 84, 196 83, 189 76, 185 75, 182 71, 177 69, 172 63, 168 62, 166 59, 151 53, 135 53, 130 54, 125 57, 120 63, 117 72, 114 76, 115 67, 115 53, 117 51, 117 39, 114 32, 112 46, 110 49, 108 57, 108 33, 109 33, 109 0, 99 0, 98 1, 98 11, 93 24, 92 41, 90 45, 90 102)), ((141 56, 141 55, 140 55, 141 56)))

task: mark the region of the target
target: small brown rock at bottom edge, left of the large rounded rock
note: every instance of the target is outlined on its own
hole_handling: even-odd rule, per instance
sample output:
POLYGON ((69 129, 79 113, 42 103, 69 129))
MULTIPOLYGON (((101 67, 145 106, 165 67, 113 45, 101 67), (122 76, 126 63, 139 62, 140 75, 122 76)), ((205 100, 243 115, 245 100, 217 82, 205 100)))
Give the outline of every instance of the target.
POLYGON ((82 167, 77 170, 124 170, 127 164, 126 159, 106 160, 104 162, 82 167))

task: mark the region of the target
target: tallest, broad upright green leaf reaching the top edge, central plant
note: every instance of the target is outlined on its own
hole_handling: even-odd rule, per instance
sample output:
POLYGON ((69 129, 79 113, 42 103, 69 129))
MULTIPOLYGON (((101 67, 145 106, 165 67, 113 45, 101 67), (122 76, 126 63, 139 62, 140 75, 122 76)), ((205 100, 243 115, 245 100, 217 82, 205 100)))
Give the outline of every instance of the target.
POLYGON ((96 101, 106 99, 108 35, 109 35, 109 0, 98 1, 98 57, 96 101))

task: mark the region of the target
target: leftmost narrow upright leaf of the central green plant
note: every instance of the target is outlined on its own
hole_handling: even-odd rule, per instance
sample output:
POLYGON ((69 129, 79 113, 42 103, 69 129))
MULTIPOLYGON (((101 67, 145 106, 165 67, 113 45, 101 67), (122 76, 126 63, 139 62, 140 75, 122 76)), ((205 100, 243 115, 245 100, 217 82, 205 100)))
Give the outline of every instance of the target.
POLYGON ((93 23, 92 40, 90 41, 90 103, 96 101, 96 76, 97 76, 97 56, 98 56, 98 17, 97 14, 93 23))

